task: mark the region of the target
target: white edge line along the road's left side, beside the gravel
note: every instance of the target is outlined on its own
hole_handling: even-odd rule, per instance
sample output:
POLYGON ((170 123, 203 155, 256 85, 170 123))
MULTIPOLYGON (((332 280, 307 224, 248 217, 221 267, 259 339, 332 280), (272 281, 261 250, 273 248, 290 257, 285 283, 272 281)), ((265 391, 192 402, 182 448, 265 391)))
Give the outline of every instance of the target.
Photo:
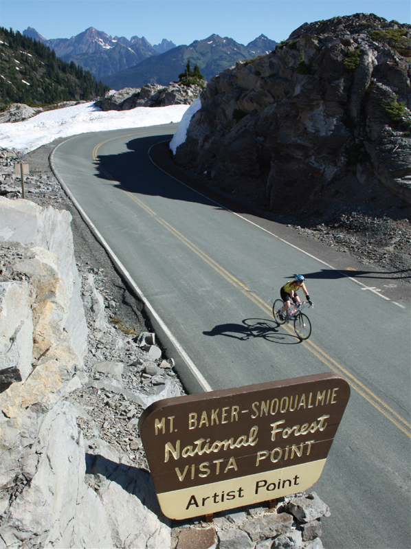
MULTIPOLYGON (((69 139, 67 139, 67 141, 69 141, 69 139)), ((63 143, 65 143, 65 142, 63 142, 63 143)), ((104 238, 102 237, 100 232, 98 232, 98 230, 96 229, 96 227, 93 224, 93 222, 91 221, 91 219, 89 219, 89 216, 87 216, 86 212, 82 209, 82 207, 80 206, 78 201, 74 198, 74 195, 71 193, 69 188, 67 188, 67 185, 65 184, 63 179, 61 179, 60 176, 58 175, 56 167, 54 166, 53 156, 54 156, 54 151, 63 143, 58 144, 52 150, 52 153, 49 156, 49 162, 50 162, 50 166, 52 167, 53 173, 56 176, 56 178, 58 179, 58 182, 60 183, 60 185, 63 187, 64 192, 67 194, 67 196, 74 203, 74 205, 76 206, 76 209, 78 210, 80 216, 82 216, 82 219, 85 221, 85 223, 87 223, 87 225, 89 226, 89 229, 91 230, 93 235, 96 237, 98 242, 107 251, 107 254, 109 254, 109 256, 110 256, 111 260, 113 261, 113 263, 115 264, 115 266, 119 269, 119 271, 122 273, 124 278, 126 278, 127 282, 129 282, 131 287, 133 287, 135 293, 137 293, 137 295, 142 300, 142 302, 147 307, 147 309, 149 311, 151 311, 151 314, 153 315, 153 317, 155 317, 155 320, 157 320, 157 322, 161 326, 162 330, 164 330, 164 333, 166 333, 166 336, 168 337, 168 339, 170 339, 171 343, 175 346, 175 348, 177 349, 177 352, 179 352, 181 357, 184 359, 184 361, 186 362, 188 368, 191 370, 192 374, 195 376, 195 378, 197 379, 197 381, 199 382, 199 384, 201 385, 203 390, 205 392, 212 391, 211 385, 203 377, 203 374, 201 374, 201 372, 198 370, 197 366, 195 366, 195 363, 190 359, 187 352, 184 350, 183 346, 181 346, 181 344, 179 344, 179 341, 177 341, 177 339, 175 338, 175 336, 173 335, 171 330, 168 328, 168 326, 165 324, 165 322, 162 320, 162 318, 157 314, 155 309, 153 309, 153 306, 151 306, 151 303, 146 299, 144 293, 142 293, 142 291, 137 286, 137 284, 135 284, 133 278, 131 278, 130 273, 126 270, 124 265, 122 265, 122 262, 120 262, 118 257, 115 255, 115 253, 111 249, 111 247, 107 244, 106 240, 104 240, 104 238)))

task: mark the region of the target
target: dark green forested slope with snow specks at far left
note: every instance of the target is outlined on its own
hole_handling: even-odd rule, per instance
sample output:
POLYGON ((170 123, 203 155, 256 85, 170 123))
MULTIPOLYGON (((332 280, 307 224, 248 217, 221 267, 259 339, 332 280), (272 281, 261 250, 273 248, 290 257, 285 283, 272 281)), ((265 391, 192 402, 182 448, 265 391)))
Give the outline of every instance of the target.
POLYGON ((0 27, 0 104, 36 107, 62 101, 92 100, 109 91, 89 71, 65 63, 41 42, 0 27))

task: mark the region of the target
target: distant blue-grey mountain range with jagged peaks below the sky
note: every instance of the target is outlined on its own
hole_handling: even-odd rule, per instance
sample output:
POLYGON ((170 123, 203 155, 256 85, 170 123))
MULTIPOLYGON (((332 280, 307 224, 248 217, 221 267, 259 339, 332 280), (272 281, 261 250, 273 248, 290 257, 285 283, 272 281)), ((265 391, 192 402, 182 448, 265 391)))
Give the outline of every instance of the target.
POLYGON ((198 63, 208 80, 238 60, 264 55, 276 46, 263 34, 246 46, 217 34, 188 46, 176 46, 166 38, 151 45, 144 36, 132 36, 130 40, 124 36, 112 38, 93 27, 71 38, 47 40, 32 27, 23 34, 54 49, 56 56, 68 63, 74 61, 89 70, 113 89, 142 87, 148 82, 167 85, 177 79, 188 59, 192 65, 198 63))

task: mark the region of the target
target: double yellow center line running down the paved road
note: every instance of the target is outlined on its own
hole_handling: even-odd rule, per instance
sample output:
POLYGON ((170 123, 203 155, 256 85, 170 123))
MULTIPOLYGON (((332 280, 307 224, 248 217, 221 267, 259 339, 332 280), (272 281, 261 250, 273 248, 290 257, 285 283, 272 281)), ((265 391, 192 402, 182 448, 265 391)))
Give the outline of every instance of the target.
MULTIPOLYGON (((121 137, 127 137, 127 136, 121 136, 121 137)), ((98 148, 101 145, 108 143, 109 141, 113 141, 113 139, 119 139, 119 137, 113 137, 112 139, 107 139, 107 141, 103 141, 100 144, 98 144, 93 150, 93 159, 97 159, 96 155, 97 155, 98 148)), ((111 177, 111 175, 109 175, 109 177, 111 177)), ((267 303, 263 301, 256 293, 250 291, 245 286, 245 284, 243 284, 243 282, 241 282, 235 276, 233 276, 232 273, 224 269, 224 267, 221 267, 219 263, 217 263, 214 259, 210 258, 210 256, 208 256, 204 251, 202 251, 194 243, 188 240, 188 238, 186 238, 184 234, 181 234, 181 232, 177 231, 177 229, 175 229, 173 225, 170 225, 170 223, 168 223, 167 221, 162 219, 160 216, 158 216, 158 214, 156 214, 154 210, 152 210, 149 206, 144 204, 142 200, 135 197, 135 194, 132 194, 131 192, 125 189, 122 189, 122 190, 124 190, 125 194, 129 198, 131 198, 133 201, 135 201, 135 203, 140 205, 140 208, 143 208, 143 210, 145 210, 151 216, 155 216, 156 221, 161 223, 163 227, 165 227, 168 231, 174 234, 174 236, 176 236, 182 243, 184 243, 184 245, 186 245, 188 248, 194 251, 195 254, 197 254, 197 256, 199 256, 201 259, 206 261, 208 265, 210 265, 210 267, 212 267, 217 273, 223 276, 225 280, 233 284, 233 286, 236 287, 237 289, 240 289, 241 293, 243 293, 243 295, 246 295, 247 298, 249 298, 249 300, 252 300, 252 302, 254 302, 258 307, 260 307, 260 309, 262 309, 265 313, 269 313, 270 316, 272 315, 271 307, 267 305, 267 303)), ((292 335, 294 334, 293 330, 291 330, 289 326, 283 326, 283 328, 285 328, 285 330, 287 330, 288 333, 292 335)), ((388 406, 388 404, 386 404, 383 400, 381 400, 373 391, 368 389, 366 385, 364 385, 364 383, 359 381, 353 374, 348 372, 348 370, 346 370, 344 366, 341 366, 337 361, 329 357, 329 355, 327 355, 326 352, 324 352, 320 347, 315 345, 313 341, 311 340, 302 341, 302 345, 304 346, 305 349, 309 350, 309 352, 313 353, 315 357, 317 357, 320 361, 322 361, 322 363, 324 363, 330 370, 332 370, 333 372, 336 372, 337 374, 342 375, 343 377, 348 378, 346 381, 348 381, 351 387, 355 391, 357 391, 358 394, 363 396, 364 399, 368 401, 368 403, 373 405, 377 410, 379 410, 379 412, 381 412, 381 414, 383 414, 392 423, 394 423, 396 427, 398 427, 403 433, 405 433, 407 436, 411 438, 411 434, 409 432, 409 429, 411 428, 410 423, 408 423, 408 421, 406 421, 403 417, 397 414, 395 410, 392 410, 392 408, 388 406), (395 417, 392 417, 392 416, 395 416, 395 417), (406 427, 408 427, 408 429, 406 429, 406 427, 401 425, 401 423, 399 423, 399 421, 397 421, 397 419, 395 418, 398 418, 401 423, 403 423, 404 425, 406 425, 406 427)))

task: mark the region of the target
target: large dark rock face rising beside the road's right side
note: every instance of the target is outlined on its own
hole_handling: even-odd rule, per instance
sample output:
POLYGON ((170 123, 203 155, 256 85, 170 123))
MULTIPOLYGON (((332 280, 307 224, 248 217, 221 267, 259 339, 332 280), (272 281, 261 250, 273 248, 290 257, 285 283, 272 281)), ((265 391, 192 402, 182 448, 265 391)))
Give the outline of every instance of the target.
POLYGON ((177 161, 271 210, 343 202, 364 172, 411 203, 410 38, 373 14, 304 23, 210 80, 177 161))

